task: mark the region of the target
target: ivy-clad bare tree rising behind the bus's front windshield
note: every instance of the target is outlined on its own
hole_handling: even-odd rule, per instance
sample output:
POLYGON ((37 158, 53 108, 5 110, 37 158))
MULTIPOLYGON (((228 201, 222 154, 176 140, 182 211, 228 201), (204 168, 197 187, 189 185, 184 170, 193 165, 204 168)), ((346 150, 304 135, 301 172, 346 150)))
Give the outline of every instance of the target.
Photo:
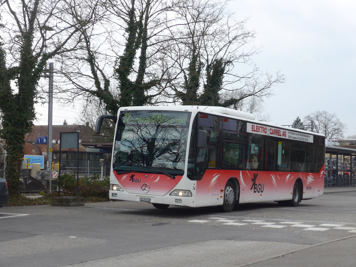
MULTIPOLYGON (((97 23, 79 28, 80 46, 61 58, 68 84, 58 89, 99 98, 111 114, 120 106, 172 103, 165 92, 175 77, 161 51, 172 38, 167 29, 177 26, 180 2, 102 0, 91 12, 97 23), (110 89, 113 80, 117 86, 110 89)), ((72 9, 70 15, 81 21, 82 14, 72 9)))

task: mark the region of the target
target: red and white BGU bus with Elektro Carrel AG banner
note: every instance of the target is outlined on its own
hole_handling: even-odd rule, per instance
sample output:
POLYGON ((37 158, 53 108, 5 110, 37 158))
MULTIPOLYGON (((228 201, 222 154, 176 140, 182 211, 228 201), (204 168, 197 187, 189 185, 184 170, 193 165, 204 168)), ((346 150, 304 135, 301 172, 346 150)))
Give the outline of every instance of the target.
POLYGON ((110 199, 221 206, 323 194, 325 136, 213 106, 122 107, 112 149, 110 199))

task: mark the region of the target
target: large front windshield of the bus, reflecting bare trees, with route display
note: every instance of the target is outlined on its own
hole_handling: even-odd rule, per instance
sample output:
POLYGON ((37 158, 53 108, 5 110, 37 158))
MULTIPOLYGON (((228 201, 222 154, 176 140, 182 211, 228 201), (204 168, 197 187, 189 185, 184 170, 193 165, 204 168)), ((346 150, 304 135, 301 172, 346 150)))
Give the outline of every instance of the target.
POLYGON ((117 172, 183 175, 190 113, 121 111, 114 144, 117 172))

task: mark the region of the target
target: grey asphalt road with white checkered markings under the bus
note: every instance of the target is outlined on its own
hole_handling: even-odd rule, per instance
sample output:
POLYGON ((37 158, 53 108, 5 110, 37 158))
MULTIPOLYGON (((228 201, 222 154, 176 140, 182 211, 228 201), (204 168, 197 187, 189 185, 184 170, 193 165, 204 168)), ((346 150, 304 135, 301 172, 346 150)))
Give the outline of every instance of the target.
POLYGON ((296 208, 114 201, 0 209, 0 266, 355 266, 356 191, 296 208))

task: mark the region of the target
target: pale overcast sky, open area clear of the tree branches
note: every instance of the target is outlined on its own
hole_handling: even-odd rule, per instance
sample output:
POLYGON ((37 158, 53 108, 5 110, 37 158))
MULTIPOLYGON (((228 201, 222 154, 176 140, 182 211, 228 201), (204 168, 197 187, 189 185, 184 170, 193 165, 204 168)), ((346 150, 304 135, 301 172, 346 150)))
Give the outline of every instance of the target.
MULTIPOLYGON (((297 116, 303 121, 325 110, 347 124, 345 136, 356 135, 356 1, 232 0, 230 6, 236 20, 250 17, 246 27, 256 32, 252 44, 262 47, 253 62, 286 78, 266 100, 271 122, 289 125, 297 116)), ((46 125, 46 108, 38 111, 44 116, 36 124, 46 125)), ((64 119, 73 124, 77 112, 54 105, 53 125, 64 119)))

